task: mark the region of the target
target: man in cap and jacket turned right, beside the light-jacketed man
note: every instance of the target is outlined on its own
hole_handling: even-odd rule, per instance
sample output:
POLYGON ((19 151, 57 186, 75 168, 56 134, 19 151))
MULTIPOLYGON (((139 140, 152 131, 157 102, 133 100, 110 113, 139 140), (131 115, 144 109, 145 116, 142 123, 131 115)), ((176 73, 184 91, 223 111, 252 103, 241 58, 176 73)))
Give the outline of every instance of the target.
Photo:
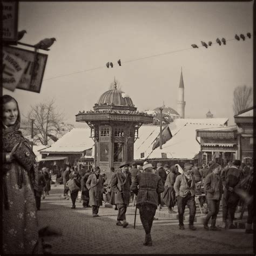
POLYGON ((210 230, 218 231, 216 227, 217 214, 219 212, 220 199, 223 194, 223 185, 220 178, 221 166, 217 163, 211 165, 212 172, 205 177, 204 187, 207 192, 208 213, 204 221, 204 228, 209 230, 208 221, 212 218, 210 230))

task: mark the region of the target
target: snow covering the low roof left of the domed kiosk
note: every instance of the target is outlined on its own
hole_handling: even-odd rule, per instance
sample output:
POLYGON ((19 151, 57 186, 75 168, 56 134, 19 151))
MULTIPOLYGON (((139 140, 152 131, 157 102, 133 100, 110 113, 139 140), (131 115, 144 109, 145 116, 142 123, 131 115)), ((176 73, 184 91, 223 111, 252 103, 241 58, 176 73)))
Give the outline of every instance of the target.
POLYGON ((40 152, 83 152, 86 149, 93 147, 94 142, 91 136, 91 129, 73 128, 64 136, 53 143, 51 147, 41 150, 40 152))

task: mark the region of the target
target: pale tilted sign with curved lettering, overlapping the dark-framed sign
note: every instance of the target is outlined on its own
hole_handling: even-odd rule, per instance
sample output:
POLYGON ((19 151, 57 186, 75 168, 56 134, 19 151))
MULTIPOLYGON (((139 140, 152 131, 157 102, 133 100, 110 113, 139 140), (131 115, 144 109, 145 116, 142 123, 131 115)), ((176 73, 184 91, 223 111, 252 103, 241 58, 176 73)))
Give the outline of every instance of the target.
POLYGON ((3 87, 14 91, 26 68, 25 60, 3 51, 3 87))

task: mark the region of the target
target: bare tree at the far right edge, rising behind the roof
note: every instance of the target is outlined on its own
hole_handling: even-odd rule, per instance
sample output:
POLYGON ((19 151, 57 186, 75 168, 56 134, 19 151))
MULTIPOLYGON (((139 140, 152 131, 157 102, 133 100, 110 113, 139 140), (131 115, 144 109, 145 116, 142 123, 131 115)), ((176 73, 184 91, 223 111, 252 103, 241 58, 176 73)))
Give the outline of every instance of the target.
POLYGON ((252 87, 237 86, 234 89, 233 111, 238 114, 239 111, 248 109, 253 105, 253 90, 252 87))

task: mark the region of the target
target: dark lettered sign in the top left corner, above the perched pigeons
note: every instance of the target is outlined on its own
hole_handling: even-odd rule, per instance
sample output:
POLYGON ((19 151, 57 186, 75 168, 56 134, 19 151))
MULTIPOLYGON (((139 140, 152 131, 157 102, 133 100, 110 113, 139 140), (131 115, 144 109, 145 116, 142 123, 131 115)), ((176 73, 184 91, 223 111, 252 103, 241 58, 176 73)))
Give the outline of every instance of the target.
POLYGON ((4 42, 17 44, 18 2, 2 1, 3 5, 3 36, 4 42))

